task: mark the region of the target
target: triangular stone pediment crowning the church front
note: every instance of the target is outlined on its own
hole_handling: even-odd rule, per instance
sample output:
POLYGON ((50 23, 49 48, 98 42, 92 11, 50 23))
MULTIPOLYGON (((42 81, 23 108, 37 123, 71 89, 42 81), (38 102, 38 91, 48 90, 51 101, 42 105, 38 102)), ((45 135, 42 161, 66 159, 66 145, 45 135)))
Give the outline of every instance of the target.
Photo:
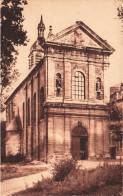
POLYGON ((75 47, 102 48, 111 53, 114 51, 113 47, 81 21, 57 33, 50 41, 69 44, 75 47))

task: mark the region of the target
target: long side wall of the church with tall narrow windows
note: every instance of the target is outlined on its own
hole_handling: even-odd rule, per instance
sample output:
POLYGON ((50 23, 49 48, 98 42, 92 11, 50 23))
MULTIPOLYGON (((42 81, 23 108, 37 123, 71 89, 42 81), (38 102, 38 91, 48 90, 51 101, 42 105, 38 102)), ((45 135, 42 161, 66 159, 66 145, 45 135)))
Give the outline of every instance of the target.
MULTIPOLYGON (((41 118, 41 88, 44 89, 45 99, 46 70, 44 66, 40 66, 37 71, 32 73, 7 103, 7 127, 9 124, 12 124, 16 116, 20 118, 21 130, 11 131, 14 131, 15 134, 21 131, 21 138, 17 137, 18 145, 21 144, 19 153, 26 156, 29 160, 46 159, 46 120, 45 118, 41 118)), ((6 138, 9 141, 9 146, 13 145, 14 141, 9 132, 6 138)))

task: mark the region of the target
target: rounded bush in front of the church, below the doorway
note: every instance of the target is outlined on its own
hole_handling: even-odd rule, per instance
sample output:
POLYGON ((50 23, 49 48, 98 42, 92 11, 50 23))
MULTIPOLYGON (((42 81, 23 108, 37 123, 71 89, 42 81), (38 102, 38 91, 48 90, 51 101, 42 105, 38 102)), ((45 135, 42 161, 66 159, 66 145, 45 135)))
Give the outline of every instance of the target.
POLYGON ((64 178, 76 168, 76 162, 72 159, 60 160, 53 168, 53 180, 63 181, 64 178))

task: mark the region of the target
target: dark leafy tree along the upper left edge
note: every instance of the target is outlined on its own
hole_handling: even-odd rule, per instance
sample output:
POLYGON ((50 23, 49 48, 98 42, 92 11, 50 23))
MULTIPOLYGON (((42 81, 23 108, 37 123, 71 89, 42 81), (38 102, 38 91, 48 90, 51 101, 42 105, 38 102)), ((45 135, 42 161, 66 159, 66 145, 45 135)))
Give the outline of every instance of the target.
MULTIPOLYGON (((15 68, 17 46, 26 45, 27 32, 23 29, 22 15, 26 0, 3 0, 1 8, 1 93, 10 86, 19 73, 15 68)), ((1 109, 3 109, 1 107, 1 109)))

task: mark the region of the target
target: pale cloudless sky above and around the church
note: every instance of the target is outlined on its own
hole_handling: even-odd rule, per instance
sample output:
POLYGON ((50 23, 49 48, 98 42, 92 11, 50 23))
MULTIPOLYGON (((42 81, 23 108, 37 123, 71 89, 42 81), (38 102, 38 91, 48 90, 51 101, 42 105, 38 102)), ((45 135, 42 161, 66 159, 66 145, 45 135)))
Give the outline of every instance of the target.
POLYGON ((117 17, 118 0, 27 0, 24 7, 24 29, 28 32, 29 43, 19 47, 16 67, 21 76, 19 83, 28 73, 28 55, 31 45, 37 39, 37 26, 41 14, 46 27, 45 38, 49 32, 49 25, 53 33, 83 21, 102 39, 115 48, 110 56, 110 67, 105 75, 106 88, 123 82, 123 33, 121 20, 117 17))

